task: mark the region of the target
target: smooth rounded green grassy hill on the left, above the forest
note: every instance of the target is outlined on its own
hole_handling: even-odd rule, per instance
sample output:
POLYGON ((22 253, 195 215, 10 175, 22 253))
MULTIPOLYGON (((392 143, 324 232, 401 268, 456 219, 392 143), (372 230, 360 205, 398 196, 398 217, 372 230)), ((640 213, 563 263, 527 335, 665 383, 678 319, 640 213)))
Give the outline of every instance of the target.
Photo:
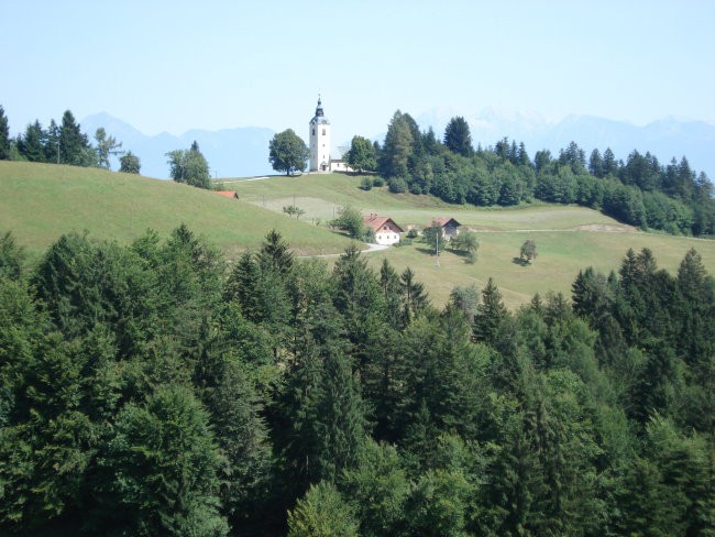
POLYGON ((302 254, 340 252, 348 244, 326 229, 169 180, 0 161, 0 231, 11 230, 31 255, 70 230, 123 242, 146 228, 167 233, 182 222, 229 254, 257 246, 273 228, 302 254))

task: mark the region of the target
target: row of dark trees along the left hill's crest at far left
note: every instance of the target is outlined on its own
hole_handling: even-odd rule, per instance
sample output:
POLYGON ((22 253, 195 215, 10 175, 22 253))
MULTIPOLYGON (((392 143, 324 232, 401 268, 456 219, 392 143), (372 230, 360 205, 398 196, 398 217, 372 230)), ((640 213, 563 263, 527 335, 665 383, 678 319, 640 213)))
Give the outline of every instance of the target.
POLYGON ((81 132, 72 111, 66 110, 62 122, 50 121, 47 129, 38 120, 28 124, 24 133, 10 138, 8 118, 0 106, 0 161, 28 161, 73 166, 110 168, 110 158, 119 156, 120 172, 139 174, 140 158, 122 151, 122 143, 108 135, 103 128, 95 132, 96 145, 81 132))

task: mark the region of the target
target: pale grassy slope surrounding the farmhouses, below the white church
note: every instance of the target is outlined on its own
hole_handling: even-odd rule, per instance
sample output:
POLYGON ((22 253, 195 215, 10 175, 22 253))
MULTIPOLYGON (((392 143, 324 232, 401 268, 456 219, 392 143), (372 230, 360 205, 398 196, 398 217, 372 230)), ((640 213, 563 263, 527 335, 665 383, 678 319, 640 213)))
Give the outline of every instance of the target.
POLYGON ((295 204, 306 210, 304 219, 332 218, 341 205, 350 204, 363 213, 378 212, 393 217, 400 226, 425 226, 438 216, 451 216, 479 231, 479 261, 468 264, 449 251, 435 256, 425 244, 391 248, 370 254, 370 263, 378 268, 387 259, 399 270, 411 266, 438 304, 443 304, 455 285, 484 286, 492 276, 506 303, 516 307, 536 292, 570 294, 579 270, 594 266, 602 272, 617 270, 629 248, 650 248, 659 266, 675 272, 689 249, 695 248, 705 266, 715 274, 715 241, 684 237, 644 233, 592 209, 574 206, 534 205, 520 208, 475 208, 453 206, 429 196, 392 195, 386 188, 363 191, 360 177, 342 174, 271 177, 263 180, 235 179, 226 183, 244 200, 275 211, 295 204), (538 257, 532 265, 514 262, 519 248, 534 239, 538 257))

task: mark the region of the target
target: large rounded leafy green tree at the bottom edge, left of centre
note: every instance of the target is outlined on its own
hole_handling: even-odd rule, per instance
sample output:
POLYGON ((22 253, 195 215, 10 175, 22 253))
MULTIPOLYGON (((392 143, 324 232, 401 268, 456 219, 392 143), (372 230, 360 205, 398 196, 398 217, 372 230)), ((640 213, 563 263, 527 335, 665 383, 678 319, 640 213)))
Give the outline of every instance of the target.
POLYGON ((108 470, 118 524, 131 535, 228 533, 218 514, 222 458, 209 416, 185 387, 160 387, 143 405, 117 417, 108 470), (121 513, 121 515, 120 515, 121 513))

